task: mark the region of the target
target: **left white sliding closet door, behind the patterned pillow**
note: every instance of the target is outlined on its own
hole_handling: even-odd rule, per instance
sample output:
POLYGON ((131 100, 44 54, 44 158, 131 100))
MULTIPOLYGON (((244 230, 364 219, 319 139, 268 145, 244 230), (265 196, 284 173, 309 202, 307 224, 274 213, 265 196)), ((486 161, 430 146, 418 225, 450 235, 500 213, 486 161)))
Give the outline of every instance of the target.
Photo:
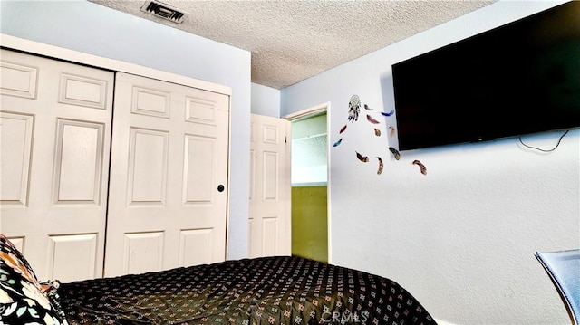
POLYGON ((101 277, 114 74, 1 51, 0 230, 40 279, 101 277))

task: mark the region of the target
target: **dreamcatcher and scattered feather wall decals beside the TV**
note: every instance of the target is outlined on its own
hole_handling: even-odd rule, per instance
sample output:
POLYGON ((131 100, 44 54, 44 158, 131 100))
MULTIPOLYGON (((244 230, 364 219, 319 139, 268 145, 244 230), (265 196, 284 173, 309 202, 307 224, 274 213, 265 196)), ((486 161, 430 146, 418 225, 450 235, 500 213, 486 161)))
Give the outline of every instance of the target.
MULTIPOLYGON (((367 104, 364 104, 363 107, 364 107, 364 110, 366 113, 366 120, 367 120, 367 122, 370 123, 370 126, 371 126, 373 133, 374 133, 374 136, 381 137, 382 136, 381 129, 377 128, 381 124, 381 121, 372 117, 372 115, 371 115, 372 108, 370 108, 367 104)), ((390 116, 392 116, 392 114, 394 114, 394 110, 391 110, 389 112, 384 112, 384 111, 381 112, 381 115, 384 117, 390 117, 390 116)), ((348 122, 354 123, 354 122, 358 121, 360 115, 361 115, 361 99, 359 98, 358 95, 353 95, 351 97, 351 100, 349 100, 349 102, 348 102, 347 123, 344 124, 344 126, 339 130, 338 134, 341 135, 341 138, 339 138, 336 142, 334 142, 333 147, 340 146, 340 144, 343 142, 343 133, 344 133, 344 131, 346 131, 346 128, 348 127, 348 122)), ((387 130, 389 131, 389 138, 392 138, 395 135, 396 129, 390 125, 387 127, 387 130)), ((401 153, 399 152, 399 150, 397 150, 394 147, 389 147, 388 149, 391 152, 392 156, 396 160, 401 159, 401 153)), ((368 163, 370 161, 368 156, 364 156, 364 155, 362 155, 362 153, 360 153, 358 151, 354 151, 354 153, 356 155, 356 158, 359 161, 361 161, 362 163, 368 163)), ((384 164, 382 162, 381 157, 377 156, 376 158, 377 158, 377 164, 378 164, 377 175, 381 175, 382 169, 384 168, 384 164)), ((413 160, 412 165, 419 166, 420 173, 423 175, 427 175, 427 167, 425 167, 425 165, 423 165, 420 162, 420 160, 413 160)))

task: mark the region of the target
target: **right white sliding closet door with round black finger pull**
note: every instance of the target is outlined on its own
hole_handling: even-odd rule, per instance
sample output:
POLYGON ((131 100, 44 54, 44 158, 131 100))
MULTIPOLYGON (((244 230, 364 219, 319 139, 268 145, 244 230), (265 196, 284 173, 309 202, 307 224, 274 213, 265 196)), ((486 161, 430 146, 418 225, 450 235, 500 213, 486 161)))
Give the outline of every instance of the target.
POLYGON ((229 96, 117 73, 105 276, 226 258, 229 96))

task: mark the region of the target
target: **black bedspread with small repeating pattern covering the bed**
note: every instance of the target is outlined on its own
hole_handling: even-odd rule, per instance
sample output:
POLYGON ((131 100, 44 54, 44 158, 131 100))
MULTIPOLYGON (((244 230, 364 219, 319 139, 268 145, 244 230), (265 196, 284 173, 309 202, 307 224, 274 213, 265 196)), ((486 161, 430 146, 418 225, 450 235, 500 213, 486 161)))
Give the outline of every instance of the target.
POLYGON ((435 324, 396 282, 265 257, 63 283, 71 324, 435 324))

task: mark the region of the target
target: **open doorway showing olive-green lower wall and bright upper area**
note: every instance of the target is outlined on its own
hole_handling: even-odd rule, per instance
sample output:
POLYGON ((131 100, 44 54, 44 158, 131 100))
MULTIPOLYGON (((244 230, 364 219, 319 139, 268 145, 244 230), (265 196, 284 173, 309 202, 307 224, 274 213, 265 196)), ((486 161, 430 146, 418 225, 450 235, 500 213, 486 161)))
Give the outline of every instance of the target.
POLYGON ((286 116, 292 122, 292 254, 329 262, 328 104, 286 116))

